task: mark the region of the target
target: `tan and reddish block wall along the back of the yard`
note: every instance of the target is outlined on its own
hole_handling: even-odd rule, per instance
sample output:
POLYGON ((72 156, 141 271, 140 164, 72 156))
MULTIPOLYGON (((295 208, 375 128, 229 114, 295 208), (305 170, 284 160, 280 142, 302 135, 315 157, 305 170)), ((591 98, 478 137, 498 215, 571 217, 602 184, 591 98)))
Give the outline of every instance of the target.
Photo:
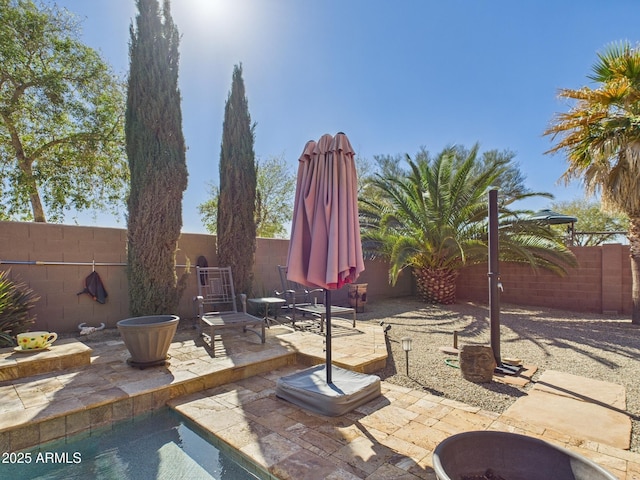
MULTIPOLYGON (((88 326, 105 323, 115 327, 118 320, 129 317, 126 244, 125 229, 0 222, 0 269, 10 269, 12 278, 22 280, 40 296, 34 308, 36 325, 32 330, 73 332, 80 323, 88 326), (28 263, 11 264, 12 261, 28 263), (61 264, 47 264, 51 262, 61 264), (94 268, 93 262, 109 295, 105 304, 95 302, 88 295, 77 295, 94 268)), ((276 267, 286 263, 288 245, 288 240, 258 239, 251 296, 271 296, 281 288, 276 267)), ((184 233, 178 248, 177 264, 185 265, 189 261, 193 268, 176 313, 181 318, 193 318, 193 297, 197 294, 195 265, 201 255, 210 266, 217 265, 215 236, 184 233)), ((501 263, 500 278, 504 286, 501 301, 576 312, 630 315, 629 247, 611 244, 572 250, 579 267, 571 269, 566 277, 501 263)), ((358 283, 368 284, 367 309, 374 309, 376 300, 415 293, 409 272, 403 272, 398 283, 391 287, 385 263, 367 261, 365 266, 358 283)), ((178 274, 182 272, 183 268, 178 268, 178 274)), ((487 265, 462 271, 457 282, 457 298, 488 303, 487 265)), ((334 304, 347 305, 346 289, 335 292, 333 299, 334 304)))

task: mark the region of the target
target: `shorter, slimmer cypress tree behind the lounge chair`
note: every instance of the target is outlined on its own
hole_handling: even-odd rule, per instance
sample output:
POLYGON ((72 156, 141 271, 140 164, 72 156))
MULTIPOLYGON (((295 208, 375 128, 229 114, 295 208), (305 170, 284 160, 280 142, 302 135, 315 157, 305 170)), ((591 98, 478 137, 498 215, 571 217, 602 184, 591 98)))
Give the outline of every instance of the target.
POLYGON ((254 128, 245 96, 242 65, 233 69, 224 109, 218 199, 218 264, 233 270, 236 293, 251 292, 256 250, 254 128))

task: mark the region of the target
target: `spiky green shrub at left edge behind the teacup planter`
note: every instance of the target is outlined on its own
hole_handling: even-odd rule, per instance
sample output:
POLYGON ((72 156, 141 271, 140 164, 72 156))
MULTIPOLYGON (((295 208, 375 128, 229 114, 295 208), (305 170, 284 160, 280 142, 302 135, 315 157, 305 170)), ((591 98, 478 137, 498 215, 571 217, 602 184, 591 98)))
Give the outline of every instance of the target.
POLYGON ((0 272, 0 347, 17 345, 15 337, 35 321, 30 310, 40 299, 25 283, 11 280, 9 272, 0 272))

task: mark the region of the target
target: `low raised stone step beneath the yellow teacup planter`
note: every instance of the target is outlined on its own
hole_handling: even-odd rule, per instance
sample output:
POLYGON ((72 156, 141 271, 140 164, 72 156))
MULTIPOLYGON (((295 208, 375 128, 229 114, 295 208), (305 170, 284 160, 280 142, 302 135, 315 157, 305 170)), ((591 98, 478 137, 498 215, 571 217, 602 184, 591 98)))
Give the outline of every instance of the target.
POLYGON ((0 382, 91 364, 93 350, 78 340, 58 340, 37 352, 0 349, 0 382))

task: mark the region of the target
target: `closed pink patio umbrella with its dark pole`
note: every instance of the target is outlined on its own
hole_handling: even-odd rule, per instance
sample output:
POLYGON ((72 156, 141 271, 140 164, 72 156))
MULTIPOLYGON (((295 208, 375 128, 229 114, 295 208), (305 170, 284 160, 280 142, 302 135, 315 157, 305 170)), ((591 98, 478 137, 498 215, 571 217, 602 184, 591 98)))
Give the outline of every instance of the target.
POLYGON ((354 151, 344 133, 309 141, 299 159, 287 278, 325 289, 327 383, 331 383, 331 290, 364 271, 354 151))

